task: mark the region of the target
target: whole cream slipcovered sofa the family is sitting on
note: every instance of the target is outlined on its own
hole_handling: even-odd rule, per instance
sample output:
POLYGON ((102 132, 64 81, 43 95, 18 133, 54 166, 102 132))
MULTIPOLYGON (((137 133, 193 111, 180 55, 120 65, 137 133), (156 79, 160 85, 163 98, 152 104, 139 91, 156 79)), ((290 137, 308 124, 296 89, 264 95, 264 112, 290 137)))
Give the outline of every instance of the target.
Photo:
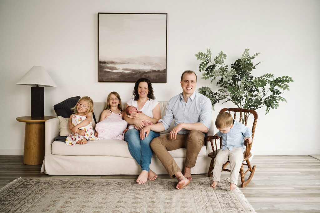
MULTIPOLYGON (((161 115, 165 114, 167 101, 159 102, 161 115)), ((122 103, 125 106, 125 102, 122 103)), ((105 102, 94 102, 94 114, 99 122, 100 114, 105 107, 105 102)), ((162 132, 169 133, 172 129, 162 132)), ((213 135, 213 121, 208 132, 213 135)), ((114 139, 100 139, 99 141, 88 141, 87 144, 68 146, 65 142, 55 141, 59 136, 59 118, 53 118, 45 122, 45 156, 41 172, 50 175, 122 175, 140 174, 141 168, 135 162, 128 150, 126 141, 114 139)), ((210 142, 205 146, 197 157, 196 166, 191 169, 192 174, 207 173, 211 158, 208 154, 212 152, 210 142)), ((186 156, 186 149, 180 148, 169 151, 182 169, 186 156)), ((150 168, 157 174, 167 174, 164 166, 155 154, 152 156, 150 168)))

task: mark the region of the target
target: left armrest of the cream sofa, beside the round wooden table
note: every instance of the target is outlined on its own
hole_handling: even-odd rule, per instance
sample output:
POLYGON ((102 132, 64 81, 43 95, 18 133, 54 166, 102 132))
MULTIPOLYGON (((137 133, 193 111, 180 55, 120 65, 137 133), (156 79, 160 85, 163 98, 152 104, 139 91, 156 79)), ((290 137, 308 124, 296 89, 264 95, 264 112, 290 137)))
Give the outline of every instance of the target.
POLYGON ((52 118, 44 122, 45 154, 51 155, 51 144, 59 136, 59 118, 52 118))

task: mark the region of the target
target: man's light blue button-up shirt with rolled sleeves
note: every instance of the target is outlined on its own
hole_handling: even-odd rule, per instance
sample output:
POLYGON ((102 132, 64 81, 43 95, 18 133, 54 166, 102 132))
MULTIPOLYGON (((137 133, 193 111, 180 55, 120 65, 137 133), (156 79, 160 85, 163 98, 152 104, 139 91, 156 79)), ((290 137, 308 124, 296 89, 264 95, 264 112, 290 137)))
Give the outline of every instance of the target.
MULTIPOLYGON (((209 98, 194 92, 188 97, 187 102, 183 99, 182 93, 172 97, 166 107, 165 116, 159 120, 164 129, 169 129, 172 119, 174 126, 180 123, 203 123, 208 129, 211 125, 212 105, 209 98)), ((182 129, 178 134, 188 134, 190 130, 182 129)))

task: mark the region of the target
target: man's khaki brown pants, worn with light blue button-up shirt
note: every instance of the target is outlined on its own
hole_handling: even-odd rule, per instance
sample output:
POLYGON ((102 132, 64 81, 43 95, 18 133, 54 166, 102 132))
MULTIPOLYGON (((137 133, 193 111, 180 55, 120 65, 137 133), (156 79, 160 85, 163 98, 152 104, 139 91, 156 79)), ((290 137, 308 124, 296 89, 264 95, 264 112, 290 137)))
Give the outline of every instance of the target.
POLYGON ((186 148, 185 166, 192 168, 196 165, 196 160, 203 144, 204 134, 198 130, 191 130, 189 134, 177 134, 177 139, 170 139, 170 134, 157 137, 151 141, 150 145, 170 177, 172 177, 175 173, 181 171, 181 169, 168 151, 186 148))

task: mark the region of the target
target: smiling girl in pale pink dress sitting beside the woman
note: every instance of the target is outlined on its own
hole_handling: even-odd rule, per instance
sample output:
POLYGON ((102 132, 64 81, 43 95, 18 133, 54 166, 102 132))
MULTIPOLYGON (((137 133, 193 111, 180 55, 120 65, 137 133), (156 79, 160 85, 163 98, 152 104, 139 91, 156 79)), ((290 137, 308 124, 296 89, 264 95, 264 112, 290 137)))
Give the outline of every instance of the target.
POLYGON ((98 136, 123 141, 123 135, 128 130, 127 125, 128 123, 124 120, 124 111, 121 109, 120 95, 117 92, 111 92, 107 98, 107 106, 96 125, 98 136))

